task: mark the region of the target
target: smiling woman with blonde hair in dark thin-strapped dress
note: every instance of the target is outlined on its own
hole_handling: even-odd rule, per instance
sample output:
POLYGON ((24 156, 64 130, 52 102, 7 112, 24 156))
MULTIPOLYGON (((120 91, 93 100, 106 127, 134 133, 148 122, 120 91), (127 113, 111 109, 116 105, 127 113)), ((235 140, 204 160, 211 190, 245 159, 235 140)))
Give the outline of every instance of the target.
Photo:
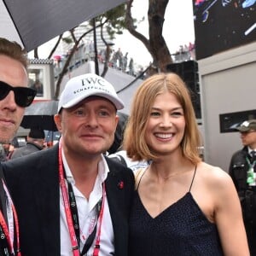
POLYGON ((138 172, 131 256, 249 255, 241 206, 228 173, 200 158, 200 133, 182 79, 160 73, 137 89, 125 129, 138 172))

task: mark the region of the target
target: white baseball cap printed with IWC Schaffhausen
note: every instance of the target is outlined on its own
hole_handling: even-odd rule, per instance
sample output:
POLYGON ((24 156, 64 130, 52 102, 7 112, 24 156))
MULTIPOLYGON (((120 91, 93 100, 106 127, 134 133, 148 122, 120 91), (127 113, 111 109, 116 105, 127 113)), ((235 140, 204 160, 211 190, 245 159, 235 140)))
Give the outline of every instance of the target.
POLYGON ((68 80, 61 93, 58 113, 61 108, 71 108, 89 96, 102 96, 119 110, 124 103, 119 99, 113 85, 95 73, 86 73, 68 80))

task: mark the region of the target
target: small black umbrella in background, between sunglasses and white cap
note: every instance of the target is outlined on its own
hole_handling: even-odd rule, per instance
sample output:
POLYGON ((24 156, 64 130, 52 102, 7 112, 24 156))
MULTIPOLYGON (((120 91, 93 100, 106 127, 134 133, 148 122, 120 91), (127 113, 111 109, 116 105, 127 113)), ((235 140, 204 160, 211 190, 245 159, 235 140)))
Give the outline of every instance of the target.
POLYGON ((34 102, 26 108, 20 126, 29 129, 40 127, 47 131, 58 131, 54 121, 57 109, 57 101, 34 102))

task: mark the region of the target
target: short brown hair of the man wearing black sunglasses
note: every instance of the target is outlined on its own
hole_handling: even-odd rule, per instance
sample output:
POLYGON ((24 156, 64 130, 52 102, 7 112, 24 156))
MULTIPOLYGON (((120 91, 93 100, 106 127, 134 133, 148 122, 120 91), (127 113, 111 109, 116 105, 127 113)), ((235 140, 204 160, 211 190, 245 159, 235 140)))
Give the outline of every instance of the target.
POLYGON ((28 60, 26 50, 22 49, 20 44, 11 42, 6 38, 0 38, 0 55, 6 55, 16 61, 20 61, 27 71, 28 60))

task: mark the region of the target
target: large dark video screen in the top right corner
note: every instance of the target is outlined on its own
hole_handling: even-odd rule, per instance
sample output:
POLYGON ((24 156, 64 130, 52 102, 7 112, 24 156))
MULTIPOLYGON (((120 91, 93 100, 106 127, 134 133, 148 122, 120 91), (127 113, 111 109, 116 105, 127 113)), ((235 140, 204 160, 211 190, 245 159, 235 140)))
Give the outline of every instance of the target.
POLYGON ((256 0, 193 0, 193 9, 197 60, 256 41, 256 0))

